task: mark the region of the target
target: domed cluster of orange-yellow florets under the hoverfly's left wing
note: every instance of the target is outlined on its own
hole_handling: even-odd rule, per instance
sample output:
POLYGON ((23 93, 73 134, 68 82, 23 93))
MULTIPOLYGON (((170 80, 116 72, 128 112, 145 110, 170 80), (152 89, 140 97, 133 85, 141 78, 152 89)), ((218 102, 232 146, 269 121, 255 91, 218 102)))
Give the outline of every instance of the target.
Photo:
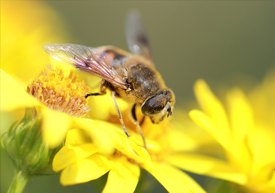
POLYGON ((79 117, 88 108, 84 96, 89 87, 77 78, 73 70, 65 77, 58 67, 55 70, 43 69, 38 77, 30 80, 27 92, 50 109, 79 117))

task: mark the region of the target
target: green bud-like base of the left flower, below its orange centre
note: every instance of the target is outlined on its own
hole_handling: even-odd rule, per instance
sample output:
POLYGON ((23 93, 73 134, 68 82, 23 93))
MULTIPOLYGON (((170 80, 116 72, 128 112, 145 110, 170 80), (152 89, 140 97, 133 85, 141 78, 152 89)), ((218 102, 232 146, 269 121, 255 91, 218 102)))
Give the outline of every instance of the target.
POLYGON ((50 149, 43 142, 41 117, 36 108, 26 108, 20 123, 11 127, 2 137, 2 145, 11 158, 17 171, 28 176, 39 175, 52 169, 53 156, 63 144, 50 149))

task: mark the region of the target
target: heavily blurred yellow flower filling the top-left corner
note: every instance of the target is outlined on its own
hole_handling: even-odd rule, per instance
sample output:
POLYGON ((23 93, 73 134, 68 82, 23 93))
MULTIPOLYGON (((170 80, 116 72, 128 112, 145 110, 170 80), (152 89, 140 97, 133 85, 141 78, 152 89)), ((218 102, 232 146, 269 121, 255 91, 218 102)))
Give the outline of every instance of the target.
POLYGON ((0 14, 1 68, 26 88, 37 69, 49 65, 42 45, 69 36, 60 17, 43 1, 1 1, 0 14))

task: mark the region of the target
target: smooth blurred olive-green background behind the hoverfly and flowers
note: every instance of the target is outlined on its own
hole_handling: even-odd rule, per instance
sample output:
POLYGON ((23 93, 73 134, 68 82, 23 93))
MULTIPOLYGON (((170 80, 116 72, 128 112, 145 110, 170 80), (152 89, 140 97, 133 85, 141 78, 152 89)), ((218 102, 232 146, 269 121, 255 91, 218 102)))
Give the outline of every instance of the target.
MULTIPOLYGON (((140 11, 156 68, 174 91, 176 105, 193 98, 193 84, 199 78, 211 87, 229 79, 242 84, 241 79, 234 79, 239 76, 260 81, 275 64, 275 1, 41 3, 57 11, 73 37, 72 42, 58 43, 114 45, 125 50, 125 17, 133 8, 140 11)), ((1 193, 7 191, 12 175, 1 147, 1 193)), ((151 183, 158 186, 152 192, 167 192, 158 182, 151 183)), ((205 181, 201 183, 205 186, 205 181)), ((24 193, 94 192, 92 187, 91 182, 63 187, 58 176, 39 177, 27 184, 24 193)))

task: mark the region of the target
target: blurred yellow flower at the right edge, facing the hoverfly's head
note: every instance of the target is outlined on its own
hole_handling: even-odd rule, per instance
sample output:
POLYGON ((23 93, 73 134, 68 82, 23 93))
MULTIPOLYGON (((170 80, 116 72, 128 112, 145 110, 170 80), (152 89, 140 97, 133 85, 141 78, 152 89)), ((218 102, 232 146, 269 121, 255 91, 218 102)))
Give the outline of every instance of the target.
POLYGON ((171 161, 194 173, 238 183, 248 192, 275 192, 274 77, 270 74, 249 97, 240 88, 231 89, 228 112, 206 83, 198 80, 195 93, 202 111, 192 110, 189 115, 222 146, 225 158, 186 153, 171 161))

